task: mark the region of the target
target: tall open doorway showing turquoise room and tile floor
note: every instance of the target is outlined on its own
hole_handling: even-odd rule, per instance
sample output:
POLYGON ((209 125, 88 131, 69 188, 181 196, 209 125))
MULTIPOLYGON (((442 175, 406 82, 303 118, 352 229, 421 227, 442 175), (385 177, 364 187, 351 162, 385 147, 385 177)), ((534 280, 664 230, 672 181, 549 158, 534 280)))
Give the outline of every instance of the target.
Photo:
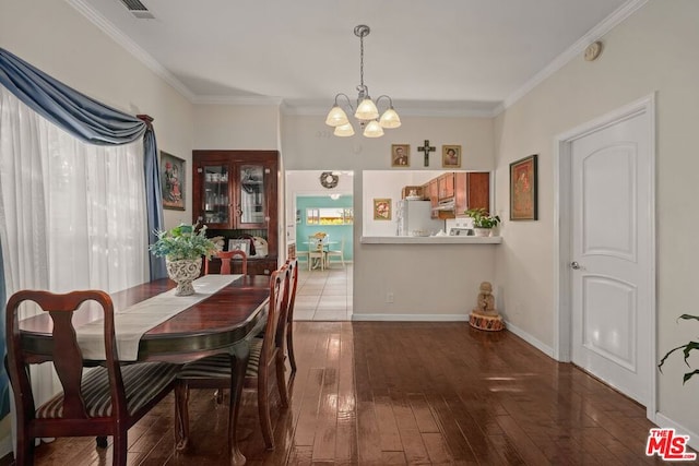
POLYGON ((294 320, 352 319, 353 180, 347 170, 286 171, 286 241, 299 260, 294 320), (309 236, 316 235, 324 237, 325 251, 342 255, 330 254, 322 266, 311 260, 309 266, 309 236))

